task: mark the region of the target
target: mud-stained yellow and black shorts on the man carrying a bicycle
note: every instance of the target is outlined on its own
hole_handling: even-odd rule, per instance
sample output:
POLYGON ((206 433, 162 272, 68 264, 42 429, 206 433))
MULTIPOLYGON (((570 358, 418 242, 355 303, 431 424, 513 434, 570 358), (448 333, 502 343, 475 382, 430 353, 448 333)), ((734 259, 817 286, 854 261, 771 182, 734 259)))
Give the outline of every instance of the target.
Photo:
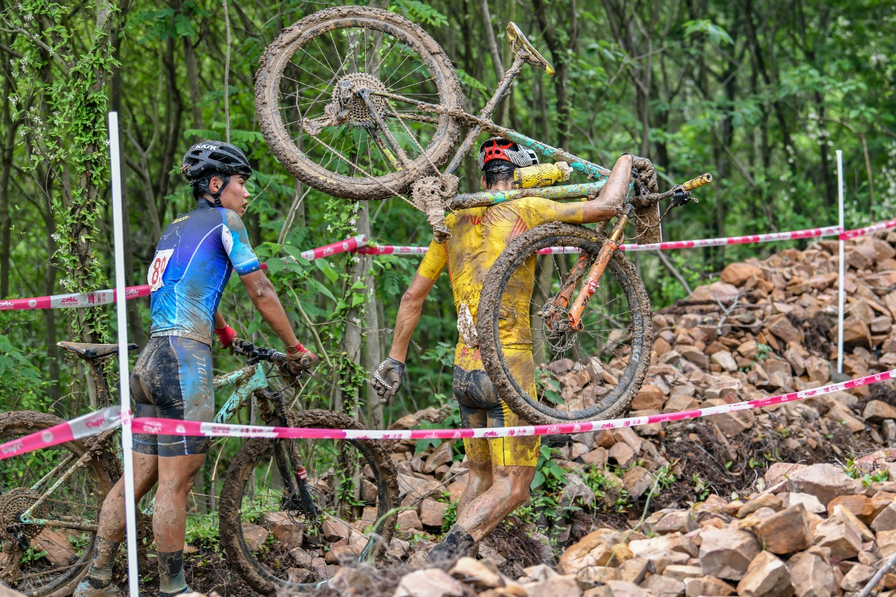
MULTIPOLYGON (((509 350, 504 350, 505 357, 509 350)), ((521 351, 520 359, 508 359, 514 368, 514 362, 531 363, 531 351, 521 351), (528 359, 525 358, 528 353, 528 359)), ((479 351, 459 345, 454 357, 454 398, 460 405, 461 427, 517 427, 528 425, 521 420, 507 403, 498 397, 495 385, 488 378, 479 351)), ((514 371, 513 376, 523 387, 535 392, 534 373, 526 375, 525 368, 514 371)), ((479 463, 491 463, 492 466, 535 466, 538 463, 538 446, 540 437, 468 437, 463 440, 467 457, 479 463)))

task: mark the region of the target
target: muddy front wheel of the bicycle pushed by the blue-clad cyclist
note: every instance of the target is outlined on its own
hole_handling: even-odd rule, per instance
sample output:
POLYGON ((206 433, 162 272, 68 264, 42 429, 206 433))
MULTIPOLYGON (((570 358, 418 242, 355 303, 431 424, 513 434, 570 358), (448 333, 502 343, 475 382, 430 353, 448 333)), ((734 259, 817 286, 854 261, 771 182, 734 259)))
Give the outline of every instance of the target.
MULTIPOLYGON (((332 411, 290 413, 291 427, 363 429, 332 411)), ((395 531, 398 475, 381 442, 253 438, 230 462, 220 495, 220 538, 228 563, 255 591, 309 592, 329 580, 332 561, 348 565, 383 556, 395 531), (325 514, 309 519, 290 510, 273 451, 296 442, 306 466, 315 505, 325 514), (362 509, 375 506, 375 521, 361 524, 362 509), (314 562, 329 547, 326 535, 348 537, 332 549, 332 560, 314 562), (316 564, 316 565, 315 565, 316 564), (328 566, 329 565, 329 566, 328 566)))

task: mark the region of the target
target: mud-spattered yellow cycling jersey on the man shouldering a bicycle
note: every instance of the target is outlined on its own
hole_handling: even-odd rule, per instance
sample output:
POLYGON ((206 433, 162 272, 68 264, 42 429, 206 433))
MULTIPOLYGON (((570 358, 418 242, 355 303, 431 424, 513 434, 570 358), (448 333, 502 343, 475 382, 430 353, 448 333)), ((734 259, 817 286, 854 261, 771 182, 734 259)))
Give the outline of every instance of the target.
MULTIPOLYGON (((444 245, 435 240, 430 243, 429 251, 417 273, 435 280, 447 265, 454 307, 460 313, 461 305, 466 304, 475 322, 479 293, 488 270, 513 238, 549 221, 581 224, 583 215, 584 203, 556 203, 542 197, 524 197, 449 214, 445 218, 445 224, 451 230, 452 238, 444 245)), ((534 267, 535 257, 532 256, 526 262, 526 270, 534 273, 534 267)), ((514 299, 513 304, 502 305, 502 311, 507 314, 502 317, 498 329, 502 346, 521 349, 531 346, 528 316, 534 286, 533 276, 518 275, 508 282, 504 296, 514 299), (515 325, 514 314, 525 314, 527 321, 515 325)), ((459 342, 458 351, 461 350, 461 344, 459 342)))

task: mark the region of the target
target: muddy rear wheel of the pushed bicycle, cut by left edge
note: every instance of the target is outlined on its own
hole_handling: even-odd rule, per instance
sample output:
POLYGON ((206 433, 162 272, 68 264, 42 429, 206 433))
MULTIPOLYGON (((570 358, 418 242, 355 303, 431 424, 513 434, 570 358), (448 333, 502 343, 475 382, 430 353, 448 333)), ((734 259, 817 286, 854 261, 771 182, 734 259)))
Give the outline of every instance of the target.
MULTIPOLYGON (((46 412, 0 413, 0 444, 65 421, 46 412)), ((0 583, 30 597, 70 595, 87 574, 93 530, 22 524, 19 516, 38 502, 87 451, 81 441, 4 460, 0 466, 0 583), (22 549, 20 541, 27 543, 22 549)), ((112 489, 114 471, 103 450, 73 468, 58 488, 32 510, 32 518, 83 523, 95 530, 99 507, 112 489)))

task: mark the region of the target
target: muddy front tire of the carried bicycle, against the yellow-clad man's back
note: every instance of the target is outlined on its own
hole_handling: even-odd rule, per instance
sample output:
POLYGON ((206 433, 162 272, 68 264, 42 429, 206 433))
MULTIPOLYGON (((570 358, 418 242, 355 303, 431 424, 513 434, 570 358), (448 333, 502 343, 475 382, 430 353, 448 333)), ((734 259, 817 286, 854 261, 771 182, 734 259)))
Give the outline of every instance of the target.
MULTIPOLYGON (((623 287, 629 305, 632 307, 633 316, 642 319, 643 332, 640 337, 640 358, 633 366, 627 366, 625 374, 620 377, 619 385, 610 393, 612 402, 603 410, 590 414, 587 417, 573 418, 573 413, 556 411, 549 407, 535 408, 529 401, 528 394, 523 397, 519 385, 514 382, 508 370, 502 363, 498 353, 496 342, 498 310, 500 297, 507 281, 513 274, 513 264, 521 259, 521 256, 531 255, 542 247, 576 247, 584 243, 601 246, 607 241, 602 232, 564 222, 549 222, 541 224, 533 229, 523 232, 514 238, 501 255, 495 260, 488 271, 486 281, 482 287, 482 295, 479 299, 479 311, 477 321, 477 334, 479 337, 479 352, 482 364, 486 369, 498 395, 507 402, 510 409, 523 420, 535 425, 550 425, 555 423, 569 423, 580 420, 607 420, 622 414, 633 401, 635 394, 641 389, 644 376, 650 367, 650 350, 653 346, 652 319, 650 298, 644 284, 638 276, 634 265, 623 254, 616 250, 608 264, 607 270, 616 275, 616 280, 623 287), (519 388, 519 389, 518 389, 519 388), (614 396, 614 394, 616 394, 614 396)), ((606 273, 605 273, 606 275, 606 273)), ((634 346, 633 346, 634 348, 634 346)), ((606 397, 605 397, 606 400, 606 397)))

